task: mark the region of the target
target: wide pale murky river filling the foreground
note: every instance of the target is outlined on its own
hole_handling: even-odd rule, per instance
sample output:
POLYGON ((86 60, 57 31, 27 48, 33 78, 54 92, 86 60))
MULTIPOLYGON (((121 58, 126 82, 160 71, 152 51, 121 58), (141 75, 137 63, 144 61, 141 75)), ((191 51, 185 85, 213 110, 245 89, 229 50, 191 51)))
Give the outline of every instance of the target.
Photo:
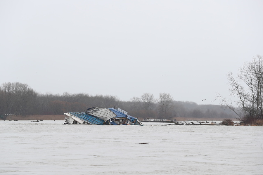
POLYGON ((63 122, 0 121, 0 174, 263 174, 263 127, 63 122))

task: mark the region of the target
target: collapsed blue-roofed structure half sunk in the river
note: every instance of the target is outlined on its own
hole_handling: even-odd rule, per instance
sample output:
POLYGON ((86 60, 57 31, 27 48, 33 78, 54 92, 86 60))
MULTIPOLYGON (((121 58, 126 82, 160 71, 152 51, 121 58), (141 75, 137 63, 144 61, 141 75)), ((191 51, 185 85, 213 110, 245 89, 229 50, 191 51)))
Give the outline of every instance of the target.
POLYGON ((63 124, 143 125, 137 118, 127 113, 120 108, 93 107, 86 109, 85 112, 64 113, 63 124))

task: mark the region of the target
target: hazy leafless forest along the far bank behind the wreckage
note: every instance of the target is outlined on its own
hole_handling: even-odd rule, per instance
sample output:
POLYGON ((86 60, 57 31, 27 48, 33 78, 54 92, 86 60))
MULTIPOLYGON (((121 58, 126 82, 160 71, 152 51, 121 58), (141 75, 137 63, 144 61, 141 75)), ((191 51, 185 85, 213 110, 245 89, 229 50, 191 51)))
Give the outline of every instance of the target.
POLYGON ((38 93, 27 84, 3 83, 0 86, 0 114, 6 115, 63 115, 65 112, 83 112, 87 108, 121 108, 139 119, 199 119, 236 118, 233 111, 221 105, 198 105, 190 101, 175 101, 169 93, 144 93, 121 101, 117 96, 89 95, 88 93, 38 93))

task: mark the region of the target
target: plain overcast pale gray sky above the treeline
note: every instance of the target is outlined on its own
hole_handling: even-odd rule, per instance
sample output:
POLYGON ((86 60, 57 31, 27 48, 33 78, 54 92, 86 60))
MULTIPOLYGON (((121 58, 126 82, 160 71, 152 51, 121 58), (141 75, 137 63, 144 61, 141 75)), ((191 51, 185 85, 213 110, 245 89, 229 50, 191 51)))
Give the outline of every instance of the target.
POLYGON ((263 1, 0 0, 0 84, 219 104, 263 55, 263 1), (206 99, 206 101, 203 101, 206 99))

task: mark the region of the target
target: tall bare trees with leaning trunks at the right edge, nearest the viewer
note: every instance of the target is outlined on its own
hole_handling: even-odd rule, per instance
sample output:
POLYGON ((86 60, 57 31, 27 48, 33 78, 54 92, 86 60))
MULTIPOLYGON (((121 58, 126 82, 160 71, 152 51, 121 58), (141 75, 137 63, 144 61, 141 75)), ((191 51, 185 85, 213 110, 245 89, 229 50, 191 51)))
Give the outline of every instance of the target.
POLYGON ((238 97, 235 102, 241 112, 237 112, 233 107, 231 100, 226 100, 220 94, 216 99, 219 99, 222 105, 233 110, 239 119, 245 123, 251 122, 255 119, 263 119, 262 109, 262 93, 263 93, 263 58, 258 55, 257 58, 249 63, 245 63, 239 69, 237 78, 233 77, 232 72, 229 72, 227 78, 230 85, 230 94, 238 97))

